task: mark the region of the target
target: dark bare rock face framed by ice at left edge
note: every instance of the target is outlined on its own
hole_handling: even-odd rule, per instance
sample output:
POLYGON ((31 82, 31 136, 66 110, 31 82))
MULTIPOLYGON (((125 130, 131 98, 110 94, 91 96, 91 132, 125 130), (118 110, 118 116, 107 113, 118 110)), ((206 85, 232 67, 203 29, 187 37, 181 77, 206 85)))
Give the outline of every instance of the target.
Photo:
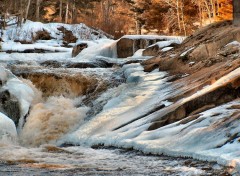
POLYGON ((0 92, 0 112, 11 118, 16 126, 18 125, 21 117, 19 103, 17 98, 10 95, 7 90, 0 92))

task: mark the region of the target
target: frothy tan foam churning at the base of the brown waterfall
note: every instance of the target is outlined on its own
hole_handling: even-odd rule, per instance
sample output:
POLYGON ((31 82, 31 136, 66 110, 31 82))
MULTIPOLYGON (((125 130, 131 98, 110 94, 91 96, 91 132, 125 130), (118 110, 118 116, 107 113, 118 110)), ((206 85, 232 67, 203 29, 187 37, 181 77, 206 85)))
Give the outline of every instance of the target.
POLYGON ((76 108, 74 101, 64 97, 50 97, 45 103, 33 106, 20 134, 20 142, 27 146, 53 143, 74 130, 89 109, 76 108))

